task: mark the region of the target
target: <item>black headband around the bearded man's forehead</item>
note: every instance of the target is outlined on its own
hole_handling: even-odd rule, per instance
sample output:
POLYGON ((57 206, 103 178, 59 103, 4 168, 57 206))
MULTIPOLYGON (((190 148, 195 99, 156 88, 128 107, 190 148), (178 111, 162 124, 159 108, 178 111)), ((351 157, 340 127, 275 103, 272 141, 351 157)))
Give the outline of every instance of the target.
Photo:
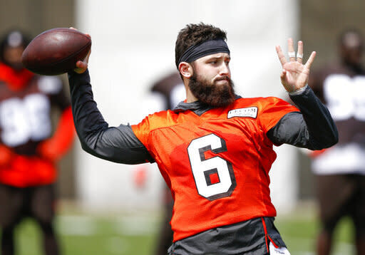
POLYGON ((191 63, 192 61, 196 61, 198 58, 202 58, 215 53, 230 54, 230 49, 228 48, 225 40, 215 39, 190 46, 180 57, 178 64, 180 64, 181 62, 191 63))

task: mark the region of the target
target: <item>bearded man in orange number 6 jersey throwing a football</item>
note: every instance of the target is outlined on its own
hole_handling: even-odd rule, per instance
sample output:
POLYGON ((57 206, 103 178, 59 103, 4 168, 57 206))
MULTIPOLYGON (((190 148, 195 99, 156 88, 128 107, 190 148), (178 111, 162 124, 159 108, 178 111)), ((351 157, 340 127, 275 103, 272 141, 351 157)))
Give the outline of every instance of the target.
POLYGON ((178 34, 175 63, 186 100, 138 125, 108 127, 93 100, 88 56, 69 73, 76 130, 86 152, 113 162, 157 162, 175 201, 169 254, 289 254, 274 227, 269 197, 274 145, 321 150, 337 142, 327 108, 307 86, 312 53, 302 64, 289 39, 277 46, 281 80, 297 107, 279 98, 235 95, 226 33, 189 24, 178 34))

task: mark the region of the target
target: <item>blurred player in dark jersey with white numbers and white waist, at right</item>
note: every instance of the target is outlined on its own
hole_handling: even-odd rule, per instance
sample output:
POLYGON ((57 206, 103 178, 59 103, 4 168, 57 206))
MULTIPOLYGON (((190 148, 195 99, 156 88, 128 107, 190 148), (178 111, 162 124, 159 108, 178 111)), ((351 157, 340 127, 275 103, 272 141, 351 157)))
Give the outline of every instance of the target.
POLYGON ((327 105, 339 143, 312 154, 322 231, 317 254, 328 255, 339 219, 354 221, 356 250, 365 254, 365 70, 364 39, 354 30, 339 37, 339 63, 312 74, 309 85, 327 105))

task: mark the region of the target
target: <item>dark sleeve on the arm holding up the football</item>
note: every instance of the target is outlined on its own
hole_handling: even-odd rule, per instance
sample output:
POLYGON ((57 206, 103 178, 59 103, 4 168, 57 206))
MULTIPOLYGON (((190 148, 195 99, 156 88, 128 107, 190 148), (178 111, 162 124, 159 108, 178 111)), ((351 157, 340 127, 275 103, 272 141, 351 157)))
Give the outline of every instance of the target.
POLYGON ((104 160, 123 164, 154 162, 130 125, 108 127, 93 100, 88 71, 68 73, 76 132, 83 150, 104 160))

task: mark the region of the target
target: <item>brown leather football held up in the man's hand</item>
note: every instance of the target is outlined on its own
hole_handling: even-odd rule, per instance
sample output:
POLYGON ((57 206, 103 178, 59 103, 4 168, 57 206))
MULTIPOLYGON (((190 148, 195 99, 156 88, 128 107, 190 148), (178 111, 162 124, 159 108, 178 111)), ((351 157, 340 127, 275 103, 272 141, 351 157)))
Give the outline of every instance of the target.
POLYGON ((71 28, 53 28, 36 36, 21 56, 24 67, 34 73, 56 76, 67 73, 83 60, 91 38, 71 28))

